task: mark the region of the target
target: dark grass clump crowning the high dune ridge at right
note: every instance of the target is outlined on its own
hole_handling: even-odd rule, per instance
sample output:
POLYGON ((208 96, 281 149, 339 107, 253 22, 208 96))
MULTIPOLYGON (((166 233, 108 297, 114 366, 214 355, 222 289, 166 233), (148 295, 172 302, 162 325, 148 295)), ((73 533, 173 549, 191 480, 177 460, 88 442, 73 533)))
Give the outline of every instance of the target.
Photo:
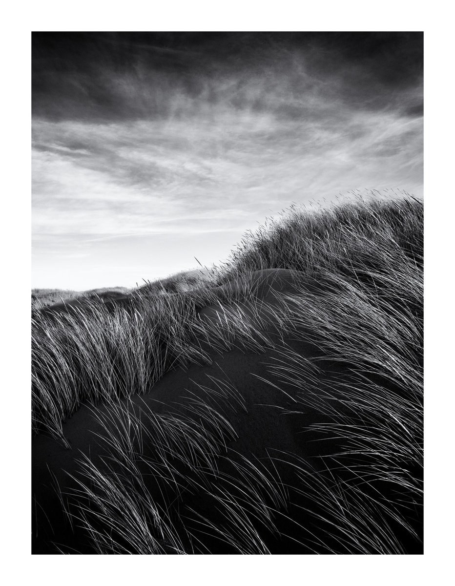
POLYGON ((291 206, 282 219, 245 234, 220 265, 218 282, 267 268, 302 271, 309 278, 337 274, 368 280, 375 271, 388 270, 387 263, 404 260, 421 267, 422 226, 423 203, 407 194, 391 200, 358 198, 319 210, 291 206))

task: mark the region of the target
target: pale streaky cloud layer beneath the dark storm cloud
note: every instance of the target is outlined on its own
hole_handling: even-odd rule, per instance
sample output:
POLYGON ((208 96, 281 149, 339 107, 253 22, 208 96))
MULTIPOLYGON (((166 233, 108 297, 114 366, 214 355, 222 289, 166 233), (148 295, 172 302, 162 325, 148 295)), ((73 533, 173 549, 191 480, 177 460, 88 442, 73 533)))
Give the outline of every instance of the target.
MULTIPOLYGON (((321 104, 324 110, 325 105, 321 104)), ((262 114, 109 125, 37 121, 33 219, 39 232, 160 230, 217 222, 295 199, 420 181, 422 121, 340 111, 338 120, 262 114), (85 137, 85 138, 84 138, 85 137), (85 139, 85 149, 72 149, 85 139), (49 145, 47 148, 46 145, 49 145), (415 163, 415 170, 409 166, 415 163)))

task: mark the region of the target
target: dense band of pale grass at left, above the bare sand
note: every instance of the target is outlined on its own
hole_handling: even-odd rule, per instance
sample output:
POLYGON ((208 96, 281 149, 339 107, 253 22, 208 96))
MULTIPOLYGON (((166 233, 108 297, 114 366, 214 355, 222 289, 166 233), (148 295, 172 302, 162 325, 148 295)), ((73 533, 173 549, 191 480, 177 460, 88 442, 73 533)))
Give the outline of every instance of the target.
POLYGON ((83 402, 143 394, 163 374, 189 363, 210 363, 207 350, 240 345, 260 350, 268 338, 254 303, 251 279, 237 288, 155 295, 138 289, 127 304, 91 301, 32 318, 32 427, 64 441, 61 425, 83 402), (240 306, 236 299, 241 299, 240 306), (212 306, 222 316, 202 321, 212 306))

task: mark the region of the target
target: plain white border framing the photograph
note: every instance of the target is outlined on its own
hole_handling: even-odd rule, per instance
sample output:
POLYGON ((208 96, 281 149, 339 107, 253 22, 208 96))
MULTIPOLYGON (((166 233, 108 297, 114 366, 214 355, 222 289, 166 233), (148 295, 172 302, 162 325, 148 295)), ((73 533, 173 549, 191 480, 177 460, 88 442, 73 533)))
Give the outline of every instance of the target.
POLYGON ((2 81, 4 317, 2 553, 7 583, 125 584, 430 584, 451 574, 453 518, 451 418, 453 323, 451 213, 453 55, 447 4, 431 2, 282 1, 73 4, 29 2, 4 8, 2 81), (162 4, 162 3, 160 3, 162 4), (423 6, 423 5, 420 5, 423 6), (425 32, 425 366, 426 505, 424 556, 30 556, 29 287, 30 287, 30 31, 32 30, 424 30, 425 32), (450 100, 450 101, 449 101, 450 100), (5 185, 6 183, 6 185, 5 185), (449 297, 450 295, 450 297, 449 297), (6 404, 5 404, 6 403, 6 404), (444 454, 444 449, 446 450, 444 454), (12 579, 11 579, 12 578, 12 579))

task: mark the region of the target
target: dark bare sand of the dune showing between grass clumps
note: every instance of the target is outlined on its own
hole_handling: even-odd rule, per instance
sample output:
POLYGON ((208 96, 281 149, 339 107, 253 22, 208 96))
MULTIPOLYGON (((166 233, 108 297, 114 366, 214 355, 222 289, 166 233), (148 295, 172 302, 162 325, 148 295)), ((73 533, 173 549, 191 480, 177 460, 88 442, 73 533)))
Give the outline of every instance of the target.
MULTIPOLYGON (((76 510, 74 503, 80 490, 78 481, 86 482, 83 467, 79 464, 84 455, 90 458, 98 471, 114 471, 118 475, 124 473, 122 466, 110 459, 111 446, 101 439, 107 434, 100 418, 115 421, 110 441, 112 437, 121 440, 119 430, 122 428, 127 429, 131 437, 137 435, 138 430, 131 423, 136 418, 143 422, 143 428, 150 437, 158 437, 163 434, 163 428, 162 424, 161 427, 157 424, 157 417, 161 422, 172 418, 173 422, 177 421, 179 429, 190 425, 189 429, 193 430, 191 425, 200 425, 201 409, 213 415, 214 421, 218 421, 215 421, 218 428, 225 425, 221 443, 210 449, 204 448, 216 470, 216 473, 212 471, 210 475, 218 475, 216 482, 220 486, 229 486, 227 479, 231 478, 232 471, 236 466, 244 466, 247 461, 250 470, 254 466, 264 469, 266 475, 278 479, 273 481, 276 490, 281 486, 288 493, 284 504, 268 503, 267 506, 276 509, 275 526, 279 531, 264 528, 260 543, 264 543, 264 547, 273 553, 312 553, 319 539, 316 539, 315 545, 313 533, 317 532, 318 525, 315 515, 323 515, 324 507, 313 502, 313 512, 309 514, 305 510, 309 503, 305 503, 302 495, 293 488, 299 485, 299 474, 302 471, 291 462, 300 462, 300 465, 305 462, 309 471, 313 469, 322 473, 326 469, 324 458, 343 449, 337 438, 324 431, 324 425, 334 421, 331 405, 336 404, 338 416, 340 410, 343 410, 343 402, 337 403, 337 399, 342 398, 337 389, 343 388, 340 386, 343 381, 348 384, 350 374, 345 364, 324 360, 321 350, 312 344, 296 336, 281 339, 268 320, 270 309, 273 310, 279 304, 279 294, 292 294, 304 284, 302 274, 293 271, 256 271, 251 275, 249 286, 255 291, 255 305, 259 308, 259 315, 265 318, 266 328, 267 324, 270 326, 266 334, 271 345, 264 352, 245 352, 234 348, 220 355, 212 350, 211 364, 193 364, 186 370, 176 369, 165 374, 145 396, 132 396, 129 400, 120 401, 123 409, 120 414, 111 405, 96 408, 81 406, 63 425, 64 437, 71 449, 64 448, 58 441, 45 435, 35 437, 32 442, 33 553, 93 551, 87 543, 87 534, 78 527, 78 523, 70 527, 61 506, 61 498, 70 511, 76 510), (285 350, 292 350, 301 357, 302 365, 308 360, 319 359, 318 372, 308 369, 307 389, 305 386, 296 389, 292 383, 283 382, 279 369, 273 369, 273 365, 276 367, 282 364, 280 361, 283 360, 285 350), (314 395, 315 389, 319 394, 316 406, 314 396, 313 406, 303 404, 299 393, 305 394, 307 391, 314 395), (59 490, 56 490, 56 486, 59 490), (302 547, 302 543, 306 546, 302 547)), ((239 287, 242 287, 239 282, 223 286, 224 289, 239 287)), ((121 302, 126 300, 129 302, 129 298, 120 299, 121 302)), ((110 303, 117 303, 117 300, 110 303)), ((243 308, 248 311, 248 303, 243 304, 243 308)), ((202 308, 200 318, 210 321, 214 326, 221 325, 225 309, 221 304, 202 308)), ((346 411, 349 411, 347 407, 346 411)), ((138 437, 135 441, 137 444, 138 437)), ((135 449, 139 449, 138 445, 135 449)), ((158 461, 153 441, 143 441, 141 450, 142 462, 158 461)), ((171 455, 166 456, 167 461, 169 465, 176 466, 182 478, 185 477, 187 472, 180 469, 182 462, 175 462, 171 455)), ((176 489, 175 486, 169 486, 169 482, 158 480, 158 475, 150 473, 150 470, 147 472, 147 466, 143 465, 142 471, 145 471, 143 479, 148 495, 151 495, 153 502, 162 503, 163 508, 166 507, 166 515, 175 526, 180 527, 180 547, 184 553, 204 553, 205 550, 211 553, 236 553, 234 546, 221 538, 217 540, 213 532, 204 537, 206 532, 199 531, 197 519, 206 518, 207 515, 220 527, 229 524, 225 513, 216 512, 220 501, 215 499, 210 487, 195 488, 201 482, 199 476, 187 486, 180 483, 176 489), (185 531, 189 530, 197 536, 196 552, 193 549, 194 539, 189 540, 180 526, 183 519, 185 531)), ((191 468, 188 478, 193 473, 194 468, 191 468)), ((200 474, 206 478, 204 474, 207 475, 207 472, 200 474)), ((230 486, 230 490, 233 494, 237 491, 241 496, 240 486, 230 486)), ((159 553, 173 553, 168 540, 162 537, 157 539, 159 553)), ((336 540, 335 533, 332 537, 326 535, 326 546, 332 544, 336 547, 336 540)), ((418 546, 411 543, 409 547, 418 546)))

